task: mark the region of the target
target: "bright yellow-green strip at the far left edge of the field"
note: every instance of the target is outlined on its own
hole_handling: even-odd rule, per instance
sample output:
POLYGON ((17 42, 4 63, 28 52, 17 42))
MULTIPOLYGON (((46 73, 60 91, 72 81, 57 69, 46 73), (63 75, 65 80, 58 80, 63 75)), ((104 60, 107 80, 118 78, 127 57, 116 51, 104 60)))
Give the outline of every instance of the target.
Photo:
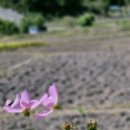
POLYGON ((21 48, 41 47, 44 45, 45 44, 41 42, 0 43, 0 51, 13 51, 21 48))

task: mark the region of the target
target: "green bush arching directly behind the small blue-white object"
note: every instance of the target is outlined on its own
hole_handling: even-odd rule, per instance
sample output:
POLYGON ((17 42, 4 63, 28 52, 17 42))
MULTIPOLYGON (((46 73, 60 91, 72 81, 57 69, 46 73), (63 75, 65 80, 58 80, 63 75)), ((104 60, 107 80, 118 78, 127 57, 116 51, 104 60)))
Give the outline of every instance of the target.
POLYGON ((45 24, 44 17, 41 14, 33 13, 33 14, 26 15, 22 19, 19 28, 22 33, 27 33, 29 27, 31 26, 36 26, 39 29, 39 31, 43 31, 43 30, 46 30, 46 27, 44 24, 45 24))

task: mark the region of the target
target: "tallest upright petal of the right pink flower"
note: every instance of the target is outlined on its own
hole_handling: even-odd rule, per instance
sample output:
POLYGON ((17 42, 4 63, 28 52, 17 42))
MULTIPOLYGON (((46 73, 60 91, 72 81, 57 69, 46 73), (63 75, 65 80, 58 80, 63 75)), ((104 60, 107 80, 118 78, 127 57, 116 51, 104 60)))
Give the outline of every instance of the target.
POLYGON ((54 83, 49 87, 49 94, 52 97, 52 99, 56 105, 58 102, 58 92, 56 89, 56 85, 54 83))

